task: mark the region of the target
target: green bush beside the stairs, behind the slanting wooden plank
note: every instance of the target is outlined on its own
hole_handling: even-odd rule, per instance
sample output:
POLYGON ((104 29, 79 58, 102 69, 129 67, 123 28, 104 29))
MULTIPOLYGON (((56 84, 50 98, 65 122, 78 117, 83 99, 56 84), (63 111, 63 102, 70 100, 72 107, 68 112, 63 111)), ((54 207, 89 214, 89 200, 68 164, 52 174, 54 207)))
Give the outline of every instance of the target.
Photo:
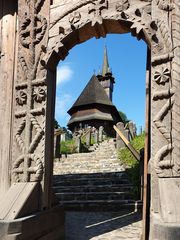
MULTIPOLYGON (((135 137, 131 144, 133 147, 140 151, 144 148, 145 143, 145 133, 135 137)), ((140 196, 140 185, 141 185, 141 176, 140 176, 140 162, 132 155, 130 150, 126 147, 119 151, 119 159, 121 163, 126 167, 126 172, 130 178, 130 181, 133 183, 133 195, 137 199, 140 196)))

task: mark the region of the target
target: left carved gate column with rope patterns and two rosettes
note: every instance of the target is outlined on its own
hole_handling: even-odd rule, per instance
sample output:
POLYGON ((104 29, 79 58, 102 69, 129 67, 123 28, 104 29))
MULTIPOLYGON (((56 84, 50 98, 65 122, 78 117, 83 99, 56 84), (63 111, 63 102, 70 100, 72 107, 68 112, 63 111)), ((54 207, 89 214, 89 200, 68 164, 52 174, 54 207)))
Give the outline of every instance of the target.
MULTIPOLYGON (((53 160, 50 159, 52 154, 46 159, 46 134, 49 133, 49 139, 53 139, 53 128, 46 125, 46 119, 50 118, 50 122, 53 115, 53 108, 49 105, 54 102, 50 102, 48 95, 52 92, 54 94, 55 79, 54 74, 47 72, 40 63, 46 52, 49 5, 49 1, 44 0, 18 1, 19 42, 12 181, 40 182, 43 192, 41 207, 48 207, 50 204, 51 174, 48 173, 47 161, 52 171, 50 162, 53 160), (48 86, 50 80, 51 85, 48 86), (50 112, 47 111, 48 108, 50 112)), ((48 151, 53 153, 52 144, 48 151)))

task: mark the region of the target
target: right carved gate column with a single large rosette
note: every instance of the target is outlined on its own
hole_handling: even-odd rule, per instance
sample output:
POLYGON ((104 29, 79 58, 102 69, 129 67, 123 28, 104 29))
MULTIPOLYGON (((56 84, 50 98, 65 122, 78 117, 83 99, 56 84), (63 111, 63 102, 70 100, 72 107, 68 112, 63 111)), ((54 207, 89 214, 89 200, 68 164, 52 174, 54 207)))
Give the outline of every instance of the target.
POLYGON ((151 87, 151 234, 150 239, 179 239, 179 7, 153 1, 151 87), (174 19, 174 22, 173 22, 174 19))

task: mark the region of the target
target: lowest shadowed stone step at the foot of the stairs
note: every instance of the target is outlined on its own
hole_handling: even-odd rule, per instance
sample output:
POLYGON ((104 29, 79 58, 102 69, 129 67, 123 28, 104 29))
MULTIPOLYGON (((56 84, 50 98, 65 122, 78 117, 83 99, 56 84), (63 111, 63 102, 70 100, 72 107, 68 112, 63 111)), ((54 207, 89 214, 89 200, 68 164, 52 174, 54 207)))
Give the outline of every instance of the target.
POLYGON ((142 208, 142 202, 134 200, 88 200, 60 202, 66 211, 136 211, 142 208))

